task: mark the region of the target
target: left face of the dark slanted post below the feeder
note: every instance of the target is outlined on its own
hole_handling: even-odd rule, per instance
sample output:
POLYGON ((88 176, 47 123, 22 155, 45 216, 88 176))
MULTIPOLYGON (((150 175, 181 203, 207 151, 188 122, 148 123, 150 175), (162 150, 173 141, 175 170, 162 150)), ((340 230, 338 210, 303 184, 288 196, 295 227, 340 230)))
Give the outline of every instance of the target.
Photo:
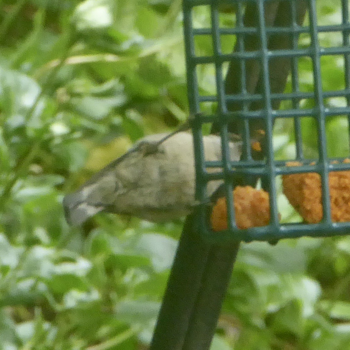
POLYGON ((188 216, 149 350, 182 349, 210 247, 195 224, 195 215, 188 216))

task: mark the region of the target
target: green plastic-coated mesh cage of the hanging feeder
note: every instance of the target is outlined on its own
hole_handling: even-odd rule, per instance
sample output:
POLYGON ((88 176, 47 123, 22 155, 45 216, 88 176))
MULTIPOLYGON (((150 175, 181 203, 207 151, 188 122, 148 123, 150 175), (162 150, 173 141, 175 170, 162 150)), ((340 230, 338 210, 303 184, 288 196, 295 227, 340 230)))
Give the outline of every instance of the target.
MULTIPOLYGON (((349 170, 350 165, 327 153, 327 118, 350 116, 349 75, 349 7, 341 0, 341 21, 332 25, 317 23, 316 0, 288 1, 215 1, 183 0, 184 33, 188 75, 190 113, 195 140, 197 200, 202 203, 198 215, 200 231, 210 240, 237 239, 244 241, 295 238, 300 236, 333 236, 349 232, 349 222, 333 222, 329 201, 329 172, 349 170), (280 4, 280 6, 277 6, 280 4), (283 6, 281 6, 281 4, 283 6), (278 8, 278 10, 277 10, 278 8), (193 14, 201 9, 210 22, 194 23, 193 14), (233 16, 228 25, 223 14, 233 16), (279 11, 279 13, 276 13, 279 11), (320 37, 337 34, 337 44, 327 47, 320 37), (306 38, 300 44, 300 37, 306 38), (223 42, 231 40, 228 51, 223 42), (205 42, 210 55, 198 54, 196 43, 205 42), (336 56, 342 62, 343 88, 326 91, 322 86, 323 57, 336 56), (310 62, 312 89, 300 89, 300 59, 310 62), (198 87, 198 69, 212 69, 215 92, 208 96, 198 87), (287 86, 287 87, 286 87, 287 86), (344 103, 331 105, 330 98, 342 98, 344 103), (308 101, 307 104, 303 103, 308 101), (211 108, 203 109, 210 105, 211 108), (293 121, 295 157, 276 160, 273 150, 273 127, 279 118, 293 121), (302 121, 313 118, 316 125, 318 155, 304 155, 302 121), (222 162, 208 162, 203 152, 203 126, 214 124, 222 138, 222 162), (252 154, 250 140, 253 130, 265 131, 264 156, 252 154), (243 140, 243 156, 233 162, 229 155, 229 134, 236 132, 243 140), (286 161, 299 161, 302 166, 288 167, 286 161), (208 169, 216 169, 215 174, 208 169), (279 177, 291 173, 321 175, 323 218, 318 223, 281 223, 277 194, 279 177), (270 222, 267 226, 239 230, 235 223, 232 188, 237 176, 259 177, 269 193, 270 222), (206 186, 209 181, 223 179, 228 210, 228 229, 213 232, 208 225, 206 186)), ((347 122, 348 123, 348 122, 347 122)), ((348 123, 349 124, 349 123, 348 123)), ((346 126, 347 127, 347 126, 346 126)))

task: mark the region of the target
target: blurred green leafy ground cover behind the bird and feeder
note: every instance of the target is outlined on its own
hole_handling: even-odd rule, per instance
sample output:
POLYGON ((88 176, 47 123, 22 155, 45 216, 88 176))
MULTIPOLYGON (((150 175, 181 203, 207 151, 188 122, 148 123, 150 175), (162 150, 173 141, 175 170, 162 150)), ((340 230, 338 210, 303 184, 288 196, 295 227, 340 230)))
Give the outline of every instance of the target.
MULTIPOLYGON (((146 349, 182 222, 104 214, 74 229, 62 198, 138 138, 186 119, 181 1, 0 8, 0 349, 146 349)), ((317 0, 317 11, 318 24, 341 23, 340 1, 317 0)), ((208 9, 196 8, 194 21, 209 23, 208 9)), ((232 25, 234 14, 226 9, 221 21, 232 25)), ((338 32, 319 39, 342 43, 338 32)), ((229 52, 232 40, 224 45, 229 52)), ((196 50, 210 54, 205 38, 196 50)), ((300 89, 312 91, 310 59, 298 66, 300 89)), ((210 69, 198 73, 212 93, 210 69)), ((322 84, 344 88, 342 57, 322 58, 322 84)), ((313 157, 315 125, 302 124, 313 157)), ((280 159, 293 156, 292 126, 276 123, 280 159)), ((345 116, 327 120, 330 156, 349 153, 347 126, 345 116)), ((298 220, 282 195, 279 205, 284 221, 298 220)), ((349 287, 349 237, 245 244, 212 349, 348 349, 349 287)))

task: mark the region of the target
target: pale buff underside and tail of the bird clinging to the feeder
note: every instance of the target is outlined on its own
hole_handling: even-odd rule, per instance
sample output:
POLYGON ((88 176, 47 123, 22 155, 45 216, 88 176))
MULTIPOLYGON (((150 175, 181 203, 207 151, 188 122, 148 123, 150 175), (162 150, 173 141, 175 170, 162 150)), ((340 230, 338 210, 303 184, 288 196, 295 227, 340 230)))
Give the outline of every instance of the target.
MULTIPOLYGON (((77 191, 66 195, 63 206, 67 221, 80 225, 100 211, 151 222, 168 222, 189 214, 196 204, 193 137, 179 132, 161 142, 166 136, 155 134, 139 140, 77 191)), ((218 136, 204 136, 203 146, 205 160, 222 159, 218 136)), ((231 160, 238 161, 241 142, 230 142, 229 149, 231 160)), ((208 196, 221 183, 209 182, 208 196)))

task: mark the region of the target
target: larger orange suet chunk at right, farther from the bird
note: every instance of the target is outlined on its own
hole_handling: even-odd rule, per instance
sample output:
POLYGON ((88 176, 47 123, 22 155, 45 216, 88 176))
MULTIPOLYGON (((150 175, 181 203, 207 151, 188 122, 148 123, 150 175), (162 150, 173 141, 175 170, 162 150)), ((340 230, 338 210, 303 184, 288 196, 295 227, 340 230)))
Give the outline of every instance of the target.
MULTIPOLYGON (((333 162, 337 163, 337 162, 333 162)), ((350 163, 345 159, 344 163, 350 163)), ((287 166, 301 166, 289 162, 287 166)), ((322 220, 321 176, 317 173, 282 176, 283 193, 307 223, 322 220)), ((333 222, 350 221, 350 170, 329 173, 331 218, 333 222)))

